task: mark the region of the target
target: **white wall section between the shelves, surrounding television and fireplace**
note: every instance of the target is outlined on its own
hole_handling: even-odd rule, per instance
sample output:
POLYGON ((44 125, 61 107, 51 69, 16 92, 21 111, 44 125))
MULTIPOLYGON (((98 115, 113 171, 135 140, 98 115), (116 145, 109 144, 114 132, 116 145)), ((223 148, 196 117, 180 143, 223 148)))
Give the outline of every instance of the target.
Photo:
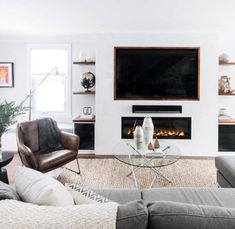
POLYGON ((140 116, 131 112, 135 104, 182 105, 182 114, 170 116, 192 117, 192 140, 170 141, 181 148, 183 155, 217 154, 218 43, 215 34, 103 34, 97 36, 96 63, 97 154, 112 153, 114 145, 121 140, 121 116, 140 116), (200 101, 113 100, 114 46, 200 47, 200 101))

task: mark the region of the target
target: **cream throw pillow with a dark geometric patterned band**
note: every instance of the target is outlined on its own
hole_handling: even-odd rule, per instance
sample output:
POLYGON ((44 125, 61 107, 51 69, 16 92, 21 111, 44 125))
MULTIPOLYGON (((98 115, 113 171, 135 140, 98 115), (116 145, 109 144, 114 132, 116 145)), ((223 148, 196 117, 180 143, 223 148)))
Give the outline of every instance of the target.
POLYGON ((94 191, 81 187, 77 184, 66 183, 65 187, 73 196, 75 204, 97 204, 112 202, 111 200, 95 193, 94 191))

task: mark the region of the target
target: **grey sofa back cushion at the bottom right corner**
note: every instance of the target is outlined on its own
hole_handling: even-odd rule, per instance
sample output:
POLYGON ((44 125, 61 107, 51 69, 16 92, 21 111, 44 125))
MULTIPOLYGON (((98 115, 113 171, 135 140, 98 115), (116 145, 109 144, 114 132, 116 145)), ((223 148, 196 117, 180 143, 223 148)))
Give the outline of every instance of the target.
POLYGON ((235 209, 157 201, 148 205, 149 229, 232 229, 235 209))

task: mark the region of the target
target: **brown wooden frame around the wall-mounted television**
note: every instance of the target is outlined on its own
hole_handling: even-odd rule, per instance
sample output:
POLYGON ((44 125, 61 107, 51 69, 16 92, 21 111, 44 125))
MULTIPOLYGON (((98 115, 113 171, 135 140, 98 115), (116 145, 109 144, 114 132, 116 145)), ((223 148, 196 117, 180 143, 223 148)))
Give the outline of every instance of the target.
POLYGON ((114 100, 192 100, 192 101, 199 101, 200 100, 200 47, 136 47, 136 46, 115 46, 114 47, 114 100), (174 96, 168 96, 168 97, 151 97, 151 96, 130 96, 125 98, 118 98, 116 94, 116 52, 117 49, 172 49, 172 50, 196 50, 197 51, 197 96, 196 97, 174 97, 174 96))

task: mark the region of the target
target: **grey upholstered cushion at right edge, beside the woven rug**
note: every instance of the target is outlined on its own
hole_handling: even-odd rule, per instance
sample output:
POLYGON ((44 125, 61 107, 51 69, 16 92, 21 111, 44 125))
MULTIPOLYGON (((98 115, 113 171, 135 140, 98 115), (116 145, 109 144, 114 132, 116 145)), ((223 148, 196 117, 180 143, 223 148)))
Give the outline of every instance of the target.
POLYGON ((235 156, 219 156, 215 158, 215 167, 228 182, 235 187, 235 156))

